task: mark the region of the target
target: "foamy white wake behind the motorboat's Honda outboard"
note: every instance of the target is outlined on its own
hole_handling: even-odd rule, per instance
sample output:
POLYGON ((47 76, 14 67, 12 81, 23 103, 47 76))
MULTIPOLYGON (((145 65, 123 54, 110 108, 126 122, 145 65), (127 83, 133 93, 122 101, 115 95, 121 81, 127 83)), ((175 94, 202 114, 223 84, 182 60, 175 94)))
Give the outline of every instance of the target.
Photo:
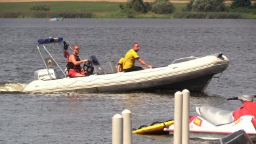
POLYGON ((26 85, 17 82, 0 82, 0 94, 22 93, 26 85))

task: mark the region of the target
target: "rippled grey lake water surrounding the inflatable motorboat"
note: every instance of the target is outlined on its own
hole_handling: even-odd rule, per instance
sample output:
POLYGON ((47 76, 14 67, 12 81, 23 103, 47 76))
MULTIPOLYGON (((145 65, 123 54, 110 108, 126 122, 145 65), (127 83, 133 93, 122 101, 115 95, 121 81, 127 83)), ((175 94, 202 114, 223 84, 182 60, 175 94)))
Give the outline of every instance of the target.
MULTIPOLYGON (((0 143, 111 143, 112 117, 125 109, 133 113, 133 128, 173 118, 175 92, 22 94, 33 72, 44 68, 37 39, 50 36, 81 46, 81 58, 95 55, 103 66, 135 42, 140 58, 154 66, 223 52, 230 65, 220 81, 191 94, 190 115, 200 105, 232 111, 240 101, 226 98, 255 94, 256 20, 0 19, 0 143)), ((54 58, 65 65, 55 49, 54 58)), ((172 141, 169 135, 133 135, 133 143, 172 141)))

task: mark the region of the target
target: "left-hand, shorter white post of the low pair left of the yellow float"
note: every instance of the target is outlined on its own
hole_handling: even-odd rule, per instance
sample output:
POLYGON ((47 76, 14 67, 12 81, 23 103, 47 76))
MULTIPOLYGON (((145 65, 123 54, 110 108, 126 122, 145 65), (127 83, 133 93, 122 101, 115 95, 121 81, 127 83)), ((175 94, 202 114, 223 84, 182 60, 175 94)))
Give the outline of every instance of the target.
POLYGON ((123 117, 119 114, 112 118, 112 144, 123 143, 123 117))

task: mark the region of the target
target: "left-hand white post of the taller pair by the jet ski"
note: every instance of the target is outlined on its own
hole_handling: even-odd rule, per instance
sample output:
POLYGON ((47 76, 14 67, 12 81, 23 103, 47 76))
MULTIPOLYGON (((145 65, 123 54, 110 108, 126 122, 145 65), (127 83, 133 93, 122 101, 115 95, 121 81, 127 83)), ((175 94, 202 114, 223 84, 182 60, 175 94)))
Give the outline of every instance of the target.
POLYGON ((182 93, 176 92, 174 95, 174 133, 173 144, 181 144, 182 139, 182 93))

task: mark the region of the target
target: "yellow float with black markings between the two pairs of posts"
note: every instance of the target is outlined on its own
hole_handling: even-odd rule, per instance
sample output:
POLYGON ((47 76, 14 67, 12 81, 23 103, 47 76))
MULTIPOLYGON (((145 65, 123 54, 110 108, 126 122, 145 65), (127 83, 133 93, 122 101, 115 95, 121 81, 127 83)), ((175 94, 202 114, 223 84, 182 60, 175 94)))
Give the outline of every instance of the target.
MULTIPOLYGON (((146 126, 144 128, 139 128, 139 130, 134 130, 133 134, 165 134, 166 132, 163 131, 163 128, 171 126, 172 124, 174 124, 174 120, 153 124, 152 126, 146 126)), ((169 133, 167 132, 167 134, 169 133)))

